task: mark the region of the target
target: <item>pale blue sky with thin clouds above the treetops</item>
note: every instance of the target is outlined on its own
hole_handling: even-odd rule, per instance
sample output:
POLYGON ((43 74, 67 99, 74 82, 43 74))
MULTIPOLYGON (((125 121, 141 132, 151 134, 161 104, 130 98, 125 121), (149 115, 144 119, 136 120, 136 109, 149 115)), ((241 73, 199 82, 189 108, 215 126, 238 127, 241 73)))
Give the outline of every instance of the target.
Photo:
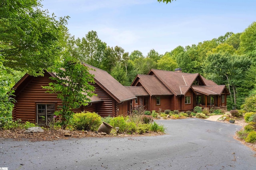
POLYGON ((55 16, 70 16, 75 38, 94 30, 110 47, 131 53, 150 49, 164 54, 181 45, 242 32, 256 21, 256 0, 43 0, 55 16))

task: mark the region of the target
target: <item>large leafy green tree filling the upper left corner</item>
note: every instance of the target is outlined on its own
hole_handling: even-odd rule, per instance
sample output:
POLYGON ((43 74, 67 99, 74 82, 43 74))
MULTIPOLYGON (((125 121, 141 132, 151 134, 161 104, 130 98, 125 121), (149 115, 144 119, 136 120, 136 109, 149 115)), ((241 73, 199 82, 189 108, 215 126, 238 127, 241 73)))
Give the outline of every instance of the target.
POLYGON ((59 60, 68 17, 56 20, 41 6, 40 0, 0 2, 0 54, 4 66, 38 75, 59 60))

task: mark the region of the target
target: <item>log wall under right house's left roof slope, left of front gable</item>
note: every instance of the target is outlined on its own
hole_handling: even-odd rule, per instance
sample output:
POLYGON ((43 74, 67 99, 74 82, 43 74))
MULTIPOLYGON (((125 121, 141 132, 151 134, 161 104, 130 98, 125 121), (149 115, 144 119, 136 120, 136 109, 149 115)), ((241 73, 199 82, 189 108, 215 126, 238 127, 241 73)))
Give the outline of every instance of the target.
POLYGON ((156 97, 152 97, 152 104, 153 104, 152 110, 155 110, 155 111, 159 111, 159 109, 161 109, 162 111, 170 110, 170 103, 171 103, 170 98, 171 98, 170 96, 160 96, 160 105, 156 105, 156 97))

